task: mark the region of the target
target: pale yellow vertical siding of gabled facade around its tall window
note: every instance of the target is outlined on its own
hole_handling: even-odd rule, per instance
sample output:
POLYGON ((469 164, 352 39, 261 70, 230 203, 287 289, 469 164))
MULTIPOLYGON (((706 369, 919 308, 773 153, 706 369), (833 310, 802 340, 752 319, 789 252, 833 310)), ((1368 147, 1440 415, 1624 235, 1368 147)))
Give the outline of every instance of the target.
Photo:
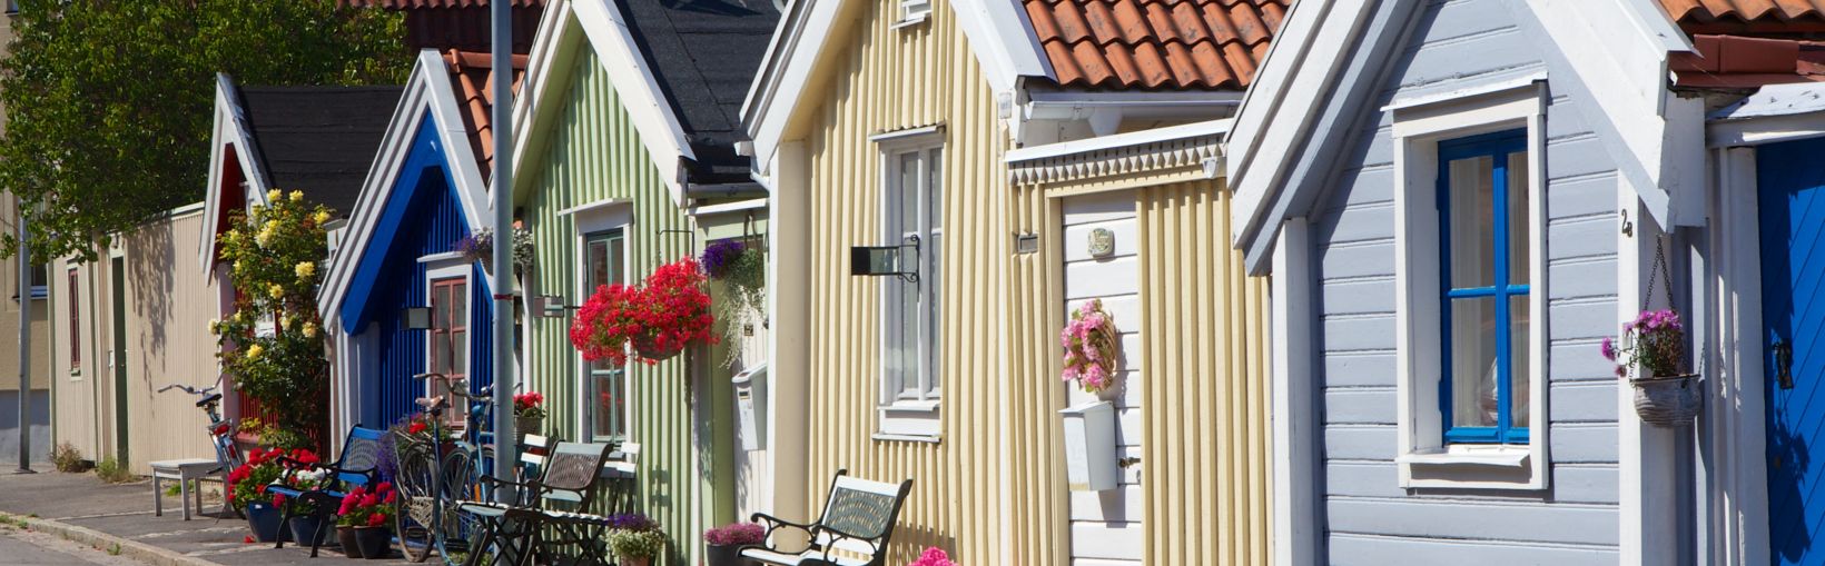
MULTIPOLYGON (((1006 226, 1009 186, 1002 166, 1006 131, 982 69, 945 2, 931 20, 891 29, 896 2, 850 7, 849 40, 819 69, 818 108, 805 135, 810 173, 810 462, 808 509, 819 509, 830 475, 883 482, 912 478, 889 564, 909 562, 923 546, 942 546, 964 564, 1002 564, 1004 533, 1031 528, 1002 515, 1007 477, 1000 425, 1004 383, 1013 360, 1004 347, 1009 303, 1006 226), (849 246, 880 239, 880 153, 869 135, 944 124, 944 288, 940 374, 942 442, 874 440, 880 398, 880 279, 849 274, 849 246), (949 292, 956 290, 956 292, 949 292)), ((798 139, 788 133, 788 139, 798 139)), ((792 254, 799 250, 781 250, 792 254)), ((1053 303, 1057 305, 1057 303, 1053 303)), ((1013 442, 1018 445, 1018 442, 1013 442)), ((1015 537, 1017 540, 1022 537, 1015 537)), ((1020 564, 1048 561, 1018 559, 1020 564)))

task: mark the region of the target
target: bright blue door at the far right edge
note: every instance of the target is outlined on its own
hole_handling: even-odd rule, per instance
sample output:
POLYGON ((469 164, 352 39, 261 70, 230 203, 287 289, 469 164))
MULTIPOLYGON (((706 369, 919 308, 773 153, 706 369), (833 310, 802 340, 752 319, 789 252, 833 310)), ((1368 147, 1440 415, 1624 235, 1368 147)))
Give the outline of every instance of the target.
POLYGON ((1756 157, 1774 564, 1825 564, 1825 458, 1812 458, 1825 436, 1821 155, 1825 139, 1761 146, 1756 157))

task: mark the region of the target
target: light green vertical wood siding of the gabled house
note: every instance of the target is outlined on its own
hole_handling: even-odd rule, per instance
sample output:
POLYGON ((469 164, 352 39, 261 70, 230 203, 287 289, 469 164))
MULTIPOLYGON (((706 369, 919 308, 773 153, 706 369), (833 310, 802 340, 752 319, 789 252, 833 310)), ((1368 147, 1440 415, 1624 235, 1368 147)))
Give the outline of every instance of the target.
MULTIPOLYGON (((580 305, 588 296, 575 288, 582 267, 577 234, 569 215, 558 212, 604 199, 630 201, 633 225, 628 226, 630 279, 652 274, 662 263, 692 252, 690 219, 672 203, 661 172, 653 168, 639 131, 615 95, 602 62, 588 47, 577 49, 569 66, 555 73, 569 84, 553 104, 562 104, 551 121, 548 146, 522 172, 529 184, 524 219, 533 230, 537 265, 527 279, 527 296, 557 294, 580 305)), ((560 86, 553 86, 560 88, 560 86)), ((580 356, 569 345, 571 318, 531 318, 527 332, 529 385, 548 394, 551 414, 546 424, 557 436, 588 438, 579 422, 586 402, 580 394, 580 356)), ((630 425, 633 442, 642 444, 639 469, 639 506, 672 537, 664 564, 695 564, 706 528, 734 517, 717 517, 715 456, 708 444, 692 436, 692 405, 697 394, 728 396, 728 380, 688 382, 690 356, 659 365, 628 367, 630 425)), ((725 475, 726 477, 726 475, 725 475)), ((726 513, 726 506, 725 513, 726 513)))

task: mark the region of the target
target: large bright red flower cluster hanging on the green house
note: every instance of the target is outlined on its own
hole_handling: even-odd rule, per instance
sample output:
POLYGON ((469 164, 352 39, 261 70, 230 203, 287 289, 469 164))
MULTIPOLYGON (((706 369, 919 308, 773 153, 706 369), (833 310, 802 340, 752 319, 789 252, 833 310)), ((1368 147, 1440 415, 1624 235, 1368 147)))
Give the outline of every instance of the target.
POLYGON ((697 259, 684 257, 659 267, 641 287, 597 287, 577 310, 571 345, 588 362, 626 365, 630 343, 639 351, 631 358, 642 363, 659 363, 648 354, 666 358, 664 352, 717 343, 710 332, 715 318, 710 314, 710 294, 703 290, 706 281, 697 259))

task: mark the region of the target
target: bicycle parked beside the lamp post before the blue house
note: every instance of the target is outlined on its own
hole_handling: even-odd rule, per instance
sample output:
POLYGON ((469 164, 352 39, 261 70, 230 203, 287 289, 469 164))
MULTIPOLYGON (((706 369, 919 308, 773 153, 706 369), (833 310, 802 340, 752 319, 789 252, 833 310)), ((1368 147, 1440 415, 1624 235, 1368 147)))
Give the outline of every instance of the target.
POLYGON ((458 566, 467 562, 467 537, 474 531, 474 519, 458 513, 458 502, 478 498, 476 462, 493 456, 482 442, 487 435, 482 431, 482 422, 487 422, 487 398, 493 394, 493 387, 469 394, 462 378, 438 372, 412 378, 427 383, 442 380, 447 385, 447 394, 418 400, 423 414, 429 416, 427 438, 414 435, 394 438, 394 462, 398 462, 394 489, 400 493, 402 509, 394 528, 409 561, 423 562, 436 551, 443 564, 458 566), (467 405, 465 436, 454 442, 443 440, 443 411, 451 409, 449 398, 458 398, 467 405))

